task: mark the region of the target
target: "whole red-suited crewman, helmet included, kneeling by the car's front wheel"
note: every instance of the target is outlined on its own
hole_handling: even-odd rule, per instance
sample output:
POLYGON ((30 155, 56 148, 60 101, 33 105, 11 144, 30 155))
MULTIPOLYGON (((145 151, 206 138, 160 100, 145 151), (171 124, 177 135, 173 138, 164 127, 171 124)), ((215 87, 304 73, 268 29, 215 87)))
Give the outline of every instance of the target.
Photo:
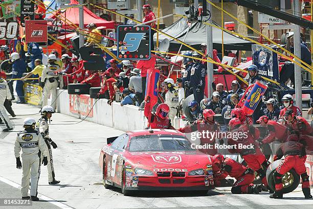
POLYGON ((236 179, 232 187, 233 194, 259 194, 258 187, 253 184, 254 171, 252 169, 244 167, 232 158, 224 158, 220 154, 213 156, 212 168, 215 186, 218 186, 219 181, 229 175, 236 179))

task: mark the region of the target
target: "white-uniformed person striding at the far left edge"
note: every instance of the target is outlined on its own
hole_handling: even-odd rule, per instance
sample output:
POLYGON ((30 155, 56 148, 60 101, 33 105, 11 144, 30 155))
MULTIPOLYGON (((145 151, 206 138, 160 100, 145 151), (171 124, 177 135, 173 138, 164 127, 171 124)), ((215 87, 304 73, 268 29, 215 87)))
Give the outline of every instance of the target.
POLYGON ((7 115, 4 102, 6 99, 11 100, 12 95, 9 89, 8 83, 5 79, 0 78, 0 118, 2 120, 2 124, 0 124, 2 131, 10 131, 13 129, 12 123, 7 115))

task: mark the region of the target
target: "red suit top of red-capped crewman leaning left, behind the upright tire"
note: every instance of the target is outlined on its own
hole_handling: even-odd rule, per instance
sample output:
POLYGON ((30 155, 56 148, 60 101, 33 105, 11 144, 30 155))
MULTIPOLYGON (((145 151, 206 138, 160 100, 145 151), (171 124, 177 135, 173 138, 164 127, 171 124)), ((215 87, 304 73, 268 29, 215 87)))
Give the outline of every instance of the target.
POLYGON ((287 127, 270 120, 267 122, 266 133, 267 135, 262 140, 264 144, 273 142, 275 138, 281 142, 285 142, 287 138, 287 127))

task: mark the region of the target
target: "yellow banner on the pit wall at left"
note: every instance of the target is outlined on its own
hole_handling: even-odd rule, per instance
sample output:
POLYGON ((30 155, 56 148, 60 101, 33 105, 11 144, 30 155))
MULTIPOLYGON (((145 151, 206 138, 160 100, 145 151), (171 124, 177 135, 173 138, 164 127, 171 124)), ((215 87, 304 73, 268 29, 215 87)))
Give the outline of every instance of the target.
POLYGON ((42 88, 39 85, 25 83, 24 84, 25 100, 32 105, 41 105, 42 88))

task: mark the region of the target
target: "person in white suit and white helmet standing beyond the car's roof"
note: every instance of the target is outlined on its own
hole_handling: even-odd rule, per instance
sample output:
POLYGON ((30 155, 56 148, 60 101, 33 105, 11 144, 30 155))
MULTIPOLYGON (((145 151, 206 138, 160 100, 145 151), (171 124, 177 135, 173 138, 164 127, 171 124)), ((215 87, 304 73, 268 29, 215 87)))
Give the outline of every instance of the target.
POLYGON ((167 78, 164 80, 165 88, 168 90, 165 94, 165 103, 170 107, 168 117, 174 124, 175 115, 177 113, 178 101, 178 91, 174 88, 174 80, 167 78))

